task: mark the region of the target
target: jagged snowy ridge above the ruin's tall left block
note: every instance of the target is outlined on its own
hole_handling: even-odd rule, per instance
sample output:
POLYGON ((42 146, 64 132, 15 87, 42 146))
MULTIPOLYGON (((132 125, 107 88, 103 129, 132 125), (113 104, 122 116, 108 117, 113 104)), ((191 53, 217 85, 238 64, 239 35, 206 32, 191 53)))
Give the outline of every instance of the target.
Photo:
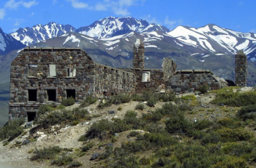
POLYGON ((36 44, 37 42, 41 42, 49 38, 56 38, 67 32, 74 31, 75 28, 73 28, 73 26, 49 22, 46 25, 37 24, 32 28, 20 28, 10 35, 16 40, 19 40, 23 44, 29 46, 30 44, 36 44))

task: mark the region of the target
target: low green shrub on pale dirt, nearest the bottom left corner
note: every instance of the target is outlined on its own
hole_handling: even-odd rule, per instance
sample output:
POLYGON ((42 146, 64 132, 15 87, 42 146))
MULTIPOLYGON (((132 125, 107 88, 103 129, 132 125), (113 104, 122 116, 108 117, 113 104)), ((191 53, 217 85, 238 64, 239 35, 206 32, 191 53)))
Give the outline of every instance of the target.
POLYGON ((44 149, 36 149, 34 155, 30 158, 32 161, 42 160, 42 159, 54 159, 58 153, 61 152, 59 146, 52 146, 44 149))

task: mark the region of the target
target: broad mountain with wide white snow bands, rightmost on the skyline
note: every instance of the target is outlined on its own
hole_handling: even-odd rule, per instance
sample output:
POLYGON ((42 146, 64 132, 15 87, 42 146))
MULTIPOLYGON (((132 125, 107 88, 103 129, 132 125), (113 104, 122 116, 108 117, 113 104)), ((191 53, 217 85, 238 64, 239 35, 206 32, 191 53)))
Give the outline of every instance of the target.
POLYGON ((256 34, 253 33, 236 32, 208 24, 201 28, 178 26, 168 35, 176 38, 177 44, 193 46, 202 52, 236 54, 238 50, 244 50, 249 59, 256 60, 253 52, 256 48, 256 34))

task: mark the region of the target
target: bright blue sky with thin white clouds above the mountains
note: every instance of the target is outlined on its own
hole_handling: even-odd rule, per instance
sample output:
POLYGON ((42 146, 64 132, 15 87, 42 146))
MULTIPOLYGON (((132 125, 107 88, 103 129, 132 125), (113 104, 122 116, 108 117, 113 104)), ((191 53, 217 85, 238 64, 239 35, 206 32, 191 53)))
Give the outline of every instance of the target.
POLYGON ((3 32, 57 22, 75 28, 108 16, 131 16, 162 24, 199 28, 216 24, 239 32, 256 32, 255 0, 1 0, 3 32))

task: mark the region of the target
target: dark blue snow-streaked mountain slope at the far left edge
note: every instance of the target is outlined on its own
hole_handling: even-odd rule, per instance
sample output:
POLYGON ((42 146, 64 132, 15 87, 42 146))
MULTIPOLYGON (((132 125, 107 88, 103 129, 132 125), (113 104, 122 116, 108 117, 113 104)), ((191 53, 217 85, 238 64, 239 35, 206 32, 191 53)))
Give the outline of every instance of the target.
POLYGON ((9 36, 8 34, 5 34, 0 28, 0 55, 7 54, 12 50, 24 48, 24 46, 25 45, 20 41, 15 40, 15 38, 9 36))

